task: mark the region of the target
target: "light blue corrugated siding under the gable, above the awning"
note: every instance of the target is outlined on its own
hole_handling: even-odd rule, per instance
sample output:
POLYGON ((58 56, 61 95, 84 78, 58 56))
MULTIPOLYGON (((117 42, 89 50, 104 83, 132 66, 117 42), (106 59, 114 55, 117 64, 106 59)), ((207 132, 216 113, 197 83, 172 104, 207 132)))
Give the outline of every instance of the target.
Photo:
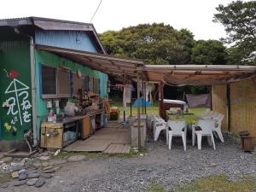
POLYGON ((37 30, 35 39, 36 44, 97 53, 96 46, 86 32, 37 30))

